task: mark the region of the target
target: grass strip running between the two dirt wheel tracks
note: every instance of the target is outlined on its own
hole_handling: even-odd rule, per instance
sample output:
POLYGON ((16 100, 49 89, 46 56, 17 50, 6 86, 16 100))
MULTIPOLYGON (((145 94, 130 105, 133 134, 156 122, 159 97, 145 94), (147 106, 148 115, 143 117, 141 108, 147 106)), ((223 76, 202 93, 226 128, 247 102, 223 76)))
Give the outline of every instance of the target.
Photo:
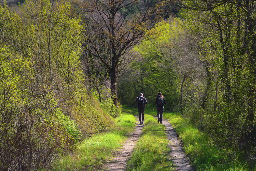
MULTIPOLYGON (((128 111, 126 109, 126 111, 128 111)), ((135 111, 129 111, 134 113, 135 111)), ((128 162, 129 171, 172 171, 175 170, 168 153, 165 126, 157 123, 151 115, 145 115, 146 125, 128 162)))

